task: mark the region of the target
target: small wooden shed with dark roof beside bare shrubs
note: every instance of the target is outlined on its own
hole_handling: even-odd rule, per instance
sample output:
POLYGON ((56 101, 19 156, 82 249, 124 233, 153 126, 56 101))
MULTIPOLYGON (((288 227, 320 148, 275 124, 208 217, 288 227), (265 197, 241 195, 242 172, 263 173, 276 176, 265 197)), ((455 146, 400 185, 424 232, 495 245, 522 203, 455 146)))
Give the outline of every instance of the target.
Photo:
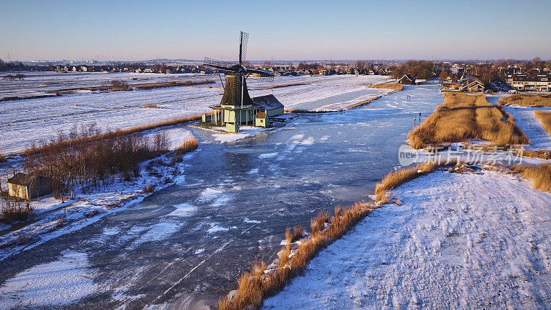
POLYGON ((21 199, 32 199, 52 192, 52 180, 44 176, 17 173, 8 178, 8 195, 21 199))

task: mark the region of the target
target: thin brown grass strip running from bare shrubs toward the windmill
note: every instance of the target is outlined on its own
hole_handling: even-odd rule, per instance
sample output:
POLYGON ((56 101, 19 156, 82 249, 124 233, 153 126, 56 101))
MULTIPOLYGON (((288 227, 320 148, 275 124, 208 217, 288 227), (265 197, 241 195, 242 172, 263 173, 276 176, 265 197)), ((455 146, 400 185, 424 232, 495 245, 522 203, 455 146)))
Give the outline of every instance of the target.
POLYGON ((152 130, 158 127, 178 125, 178 124, 187 123, 190 121, 198 121, 200 119, 201 119, 201 114, 197 114, 197 115, 187 116, 182 118, 174 118, 169 121, 161 121, 157 123, 131 127, 125 130, 121 129, 121 130, 114 130, 114 131, 104 132, 104 133, 101 133, 97 129, 92 128, 92 132, 89 134, 78 134, 78 135, 70 134, 68 138, 63 138, 61 140, 57 139, 57 140, 51 141, 50 143, 45 143, 43 145, 38 145, 38 146, 34 145, 29 149, 25 149, 23 152, 20 152, 19 155, 30 156, 30 155, 39 154, 42 152, 47 152, 49 149, 59 149, 64 147, 70 147, 75 143, 81 143, 81 142, 90 143, 92 141, 103 140, 105 138, 112 138, 116 136, 126 136, 137 132, 143 132, 145 130, 152 130))

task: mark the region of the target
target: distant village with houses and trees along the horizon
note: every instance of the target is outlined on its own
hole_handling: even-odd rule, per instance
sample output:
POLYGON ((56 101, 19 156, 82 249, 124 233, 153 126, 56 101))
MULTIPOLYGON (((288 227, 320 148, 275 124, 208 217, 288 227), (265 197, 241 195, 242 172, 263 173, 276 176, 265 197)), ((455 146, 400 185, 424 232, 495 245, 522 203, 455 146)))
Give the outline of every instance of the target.
MULTIPOLYGON (((167 62, 168 63, 168 62, 167 62)), ((444 92, 549 92, 551 90, 551 61, 495 61, 484 63, 452 63, 441 61, 398 62, 300 62, 291 64, 247 63, 248 68, 269 70, 275 76, 312 76, 333 74, 365 74, 392 76, 398 83, 413 85, 428 79, 440 79, 444 92)), ((65 63, 23 64, 6 63, 0 59, 0 71, 54 71, 74 72, 135 72, 150 74, 216 74, 216 69, 195 64, 147 63, 65 63)), ((7 79, 23 79, 21 74, 8 75, 7 79)), ((5 77, 6 79, 6 77, 5 77)))

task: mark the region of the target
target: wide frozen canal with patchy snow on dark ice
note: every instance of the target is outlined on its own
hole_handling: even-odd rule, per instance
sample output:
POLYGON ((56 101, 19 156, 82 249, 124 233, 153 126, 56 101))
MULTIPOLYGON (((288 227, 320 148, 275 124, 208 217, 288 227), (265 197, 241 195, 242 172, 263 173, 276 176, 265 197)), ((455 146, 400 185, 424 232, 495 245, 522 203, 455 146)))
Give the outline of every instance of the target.
POLYGON ((194 129, 200 152, 187 161, 185 183, 1 261, 0 308, 45 307, 41 300, 50 299, 39 296, 55 299, 63 285, 74 293, 61 306, 216 304, 254 260, 273 259, 286 227, 309 227, 321 209, 372 194, 398 166, 413 117, 443 102, 437 89, 408 86, 364 107, 304 114, 229 143, 194 129), (21 292, 21 283, 52 266, 56 289, 37 284, 21 292))

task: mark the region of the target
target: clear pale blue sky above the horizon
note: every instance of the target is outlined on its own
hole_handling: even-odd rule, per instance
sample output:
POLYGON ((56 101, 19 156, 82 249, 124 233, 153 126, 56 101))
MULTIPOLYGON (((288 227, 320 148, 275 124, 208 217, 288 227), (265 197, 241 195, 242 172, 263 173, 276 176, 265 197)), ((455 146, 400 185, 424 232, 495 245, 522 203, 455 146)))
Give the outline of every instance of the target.
POLYGON ((0 0, 0 58, 551 58, 551 1, 0 0))

